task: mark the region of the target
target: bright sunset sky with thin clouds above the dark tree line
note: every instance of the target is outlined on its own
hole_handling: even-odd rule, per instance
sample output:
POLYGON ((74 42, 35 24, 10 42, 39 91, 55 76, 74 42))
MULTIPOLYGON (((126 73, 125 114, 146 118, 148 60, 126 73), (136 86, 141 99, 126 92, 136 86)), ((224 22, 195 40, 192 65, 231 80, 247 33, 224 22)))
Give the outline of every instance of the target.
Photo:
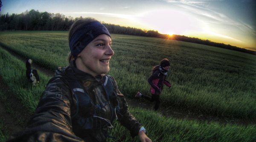
POLYGON ((256 51, 256 0, 2 0, 0 14, 26 10, 93 17, 256 51))

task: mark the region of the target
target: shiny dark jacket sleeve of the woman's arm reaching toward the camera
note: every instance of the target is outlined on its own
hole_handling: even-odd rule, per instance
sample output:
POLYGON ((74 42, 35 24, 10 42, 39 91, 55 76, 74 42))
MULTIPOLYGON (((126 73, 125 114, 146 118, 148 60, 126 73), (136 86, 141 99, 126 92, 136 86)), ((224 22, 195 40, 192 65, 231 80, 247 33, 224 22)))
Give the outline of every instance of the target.
POLYGON ((25 130, 10 136, 9 142, 82 142, 72 132, 70 100, 69 88, 52 78, 25 130))

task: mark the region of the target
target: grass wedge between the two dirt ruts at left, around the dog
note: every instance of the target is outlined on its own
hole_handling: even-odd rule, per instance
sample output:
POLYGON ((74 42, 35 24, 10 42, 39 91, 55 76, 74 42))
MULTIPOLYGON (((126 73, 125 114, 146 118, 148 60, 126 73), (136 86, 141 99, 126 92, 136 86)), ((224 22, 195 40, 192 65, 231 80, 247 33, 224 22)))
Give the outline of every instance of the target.
POLYGON ((11 91, 30 112, 34 112, 50 77, 38 70, 41 79, 40 84, 32 86, 26 78, 25 63, 11 56, 2 48, 0 48, 0 66, 2 81, 9 86, 11 91))

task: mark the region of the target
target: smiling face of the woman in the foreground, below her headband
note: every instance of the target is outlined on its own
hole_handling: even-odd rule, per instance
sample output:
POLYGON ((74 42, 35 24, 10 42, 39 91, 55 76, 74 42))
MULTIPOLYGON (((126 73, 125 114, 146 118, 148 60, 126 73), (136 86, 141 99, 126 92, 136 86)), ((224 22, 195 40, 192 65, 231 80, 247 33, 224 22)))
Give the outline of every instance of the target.
POLYGON ((106 34, 97 36, 78 55, 76 67, 96 76, 109 71, 109 61, 114 51, 111 49, 111 38, 106 34))

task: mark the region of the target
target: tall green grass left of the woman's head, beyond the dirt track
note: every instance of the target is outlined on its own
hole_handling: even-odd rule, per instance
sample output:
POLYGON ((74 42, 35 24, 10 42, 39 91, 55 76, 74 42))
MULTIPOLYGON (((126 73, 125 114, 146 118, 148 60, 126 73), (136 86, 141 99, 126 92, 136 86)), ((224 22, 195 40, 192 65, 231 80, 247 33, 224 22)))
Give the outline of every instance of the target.
POLYGON ((49 69, 56 65, 64 66, 68 53, 67 34, 63 32, 17 32, 1 34, 2 46, 10 46, 10 50, 20 56, 32 58, 36 64, 49 69))

